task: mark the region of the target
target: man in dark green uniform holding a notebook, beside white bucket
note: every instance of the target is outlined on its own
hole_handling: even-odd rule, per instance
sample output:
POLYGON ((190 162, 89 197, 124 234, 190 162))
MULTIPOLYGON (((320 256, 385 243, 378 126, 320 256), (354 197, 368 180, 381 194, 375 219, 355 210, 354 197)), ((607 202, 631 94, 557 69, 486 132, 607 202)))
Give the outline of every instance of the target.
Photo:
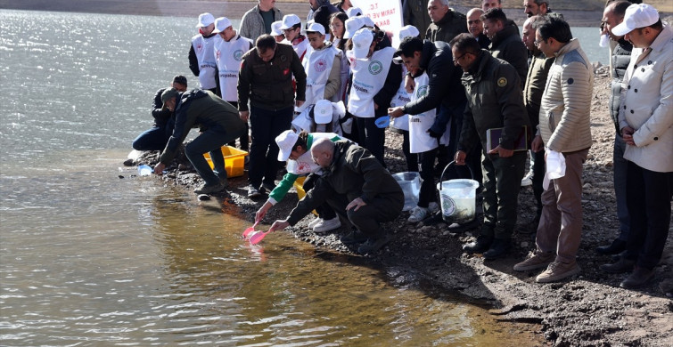
POLYGON ((511 246, 516 226, 516 206, 523 177, 526 153, 514 151, 529 119, 521 97, 521 81, 512 65, 480 49, 470 34, 451 40, 454 63, 464 71, 467 95, 463 129, 456 151, 456 165, 465 165, 467 153, 480 141, 481 166, 484 172, 482 194, 484 223, 479 237, 463 246, 467 253, 483 253, 491 260, 505 256, 511 246), (488 149, 488 129, 502 128, 495 148, 488 149))

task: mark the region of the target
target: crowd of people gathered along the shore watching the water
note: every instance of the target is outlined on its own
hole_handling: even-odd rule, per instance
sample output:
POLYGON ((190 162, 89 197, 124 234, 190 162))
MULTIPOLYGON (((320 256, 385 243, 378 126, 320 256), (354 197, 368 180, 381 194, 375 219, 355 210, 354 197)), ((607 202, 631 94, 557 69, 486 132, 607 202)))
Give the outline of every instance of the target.
MULTIPOLYGON (((204 181, 194 191, 225 190, 219 149, 239 139, 250 149, 248 197, 268 196, 256 222, 307 176, 306 197, 270 230, 316 210, 310 228, 323 233, 346 224, 341 241, 370 254, 390 241, 382 222, 402 213, 404 193, 387 169, 384 146, 388 131, 401 133, 407 170, 423 179, 409 222, 442 214, 434 184, 453 160, 453 177, 472 172, 480 183, 483 222, 464 252, 506 256, 519 191, 531 185, 537 214, 526 223, 536 247, 513 270, 544 269, 540 283, 579 273, 594 70, 549 1, 523 1, 528 20, 520 33, 500 0, 483 0, 466 14, 447 0, 406 0, 406 26, 392 35, 349 0, 308 3, 303 24, 275 0, 259 0, 238 31, 226 17, 199 16, 189 66, 201 88, 187 92, 186 78, 175 77, 155 95, 154 127, 133 144, 162 150, 156 173, 199 125, 185 148, 204 181), (287 174, 276 184, 282 162, 287 174)), ((638 287, 652 278, 669 235, 673 29, 637 0, 608 1, 601 24, 601 36, 611 40, 620 232, 596 252, 620 254, 601 269, 630 273, 621 286, 638 287)))

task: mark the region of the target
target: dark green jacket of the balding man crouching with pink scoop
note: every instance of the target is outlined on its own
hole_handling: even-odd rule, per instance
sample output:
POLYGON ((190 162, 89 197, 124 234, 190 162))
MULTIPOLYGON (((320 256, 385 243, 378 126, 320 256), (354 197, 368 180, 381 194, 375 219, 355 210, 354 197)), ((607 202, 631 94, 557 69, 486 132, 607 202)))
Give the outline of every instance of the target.
POLYGON ((292 210, 287 222, 290 225, 296 224, 336 194, 345 195, 349 201, 362 198, 367 204, 372 203, 373 198, 387 196, 394 203, 384 207, 402 212, 404 193, 379 160, 367 149, 353 142, 341 140, 334 144, 332 165, 325 169, 325 173, 317 180, 316 187, 309 190, 306 197, 292 210))

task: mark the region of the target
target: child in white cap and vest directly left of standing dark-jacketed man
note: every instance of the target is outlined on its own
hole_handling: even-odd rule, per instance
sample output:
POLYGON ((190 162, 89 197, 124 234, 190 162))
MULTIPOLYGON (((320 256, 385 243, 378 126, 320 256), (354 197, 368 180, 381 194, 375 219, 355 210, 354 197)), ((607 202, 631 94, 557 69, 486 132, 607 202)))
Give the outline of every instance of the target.
MULTIPOLYGON (((222 100, 229 102, 238 108, 238 93, 236 85, 238 84, 238 69, 241 68, 242 56, 252 48, 252 41, 249 38, 236 34, 232 27, 232 22, 226 17, 220 17, 215 20, 215 30, 221 40, 214 45, 213 54, 217 61, 217 71, 219 72, 219 90, 222 100)), ((245 133, 239 139, 241 149, 248 151, 248 123, 245 123, 245 133)), ((235 141, 228 143, 229 146, 235 146, 235 141)))

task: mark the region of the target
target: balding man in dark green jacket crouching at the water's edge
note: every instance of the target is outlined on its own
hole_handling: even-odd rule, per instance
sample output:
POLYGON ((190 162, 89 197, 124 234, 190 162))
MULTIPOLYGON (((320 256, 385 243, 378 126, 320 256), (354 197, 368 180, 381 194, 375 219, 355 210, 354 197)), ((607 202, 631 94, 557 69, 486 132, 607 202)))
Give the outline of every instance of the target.
POLYGON ((269 231, 300 222, 326 202, 354 227, 341 242, 355 245, 366 241, 357 248, 359 254, 371 254, 385 246, 390 236, 381 223, 393 221, 404 206, 398 182, 376 157, 353 142, 320 139, 311 147, 311 157, 323 167, 323 176, 290 215, 284 221, 275 221, 269 231))

